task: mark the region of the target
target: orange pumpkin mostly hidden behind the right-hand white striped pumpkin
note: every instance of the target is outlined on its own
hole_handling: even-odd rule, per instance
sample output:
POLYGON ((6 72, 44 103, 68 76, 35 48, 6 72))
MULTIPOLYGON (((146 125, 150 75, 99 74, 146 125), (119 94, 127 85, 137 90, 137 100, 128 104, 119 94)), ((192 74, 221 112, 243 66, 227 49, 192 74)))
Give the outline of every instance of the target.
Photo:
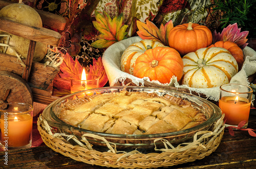
POLYGON ((210 45, 209 47, 222 47, 227 49, 231 55, 236 59, 238 63, 238 68, 241 70, 244 63, 244 54, 243 50, 234 42, 231 41, 218 41, 215 44, 210 45))

